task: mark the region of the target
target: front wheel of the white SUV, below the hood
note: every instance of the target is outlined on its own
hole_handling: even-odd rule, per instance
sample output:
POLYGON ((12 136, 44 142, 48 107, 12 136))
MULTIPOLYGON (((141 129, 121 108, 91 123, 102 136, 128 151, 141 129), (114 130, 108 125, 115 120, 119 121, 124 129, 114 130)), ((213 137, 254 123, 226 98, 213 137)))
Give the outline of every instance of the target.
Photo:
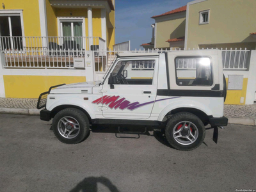
POLYGON ((52 120, 52 131, 56 138, 66 144, 83 141, 89 133, 89 127, 88 117, 75 108, 61 110, 52 120))

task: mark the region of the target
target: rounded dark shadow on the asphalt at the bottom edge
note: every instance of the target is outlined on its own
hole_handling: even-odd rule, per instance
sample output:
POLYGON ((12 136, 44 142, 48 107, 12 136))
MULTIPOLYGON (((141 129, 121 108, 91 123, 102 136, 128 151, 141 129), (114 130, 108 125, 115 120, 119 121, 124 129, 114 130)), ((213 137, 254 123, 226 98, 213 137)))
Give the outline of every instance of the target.
POLYGON ((77 186, 72 189, 70 192, 97 192, 97 183, 101 183, 106 186, 111 192, 119 192, 115 185, 106 177, 86 177, 84 180, 79 182, 77 186))

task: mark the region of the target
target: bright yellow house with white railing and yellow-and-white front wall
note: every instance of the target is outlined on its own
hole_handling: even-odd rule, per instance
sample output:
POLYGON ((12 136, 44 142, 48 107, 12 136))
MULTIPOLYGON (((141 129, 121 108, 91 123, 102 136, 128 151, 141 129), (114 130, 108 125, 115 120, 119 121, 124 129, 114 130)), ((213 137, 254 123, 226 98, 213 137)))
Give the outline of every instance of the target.
POLYGON ((93 51, 114 44, 115 0, 3 0, 0 97, 36 98, 56 84, 93 81, 109 59, 93 51))

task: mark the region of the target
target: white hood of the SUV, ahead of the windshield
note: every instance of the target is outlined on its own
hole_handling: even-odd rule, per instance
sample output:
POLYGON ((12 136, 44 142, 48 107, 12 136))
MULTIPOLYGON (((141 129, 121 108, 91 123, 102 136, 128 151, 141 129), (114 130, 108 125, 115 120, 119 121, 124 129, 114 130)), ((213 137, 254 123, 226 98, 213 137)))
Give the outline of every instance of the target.
POLYGON ((72 83, 65 84, 63 86, 58 86, 51 90, 51 94, 63 94, 63 93, 71 93, 71 94, 90 94, 92 93, 92 88, 94 86, 99 86, 102 81, 88 81, 83 83, 72 83))

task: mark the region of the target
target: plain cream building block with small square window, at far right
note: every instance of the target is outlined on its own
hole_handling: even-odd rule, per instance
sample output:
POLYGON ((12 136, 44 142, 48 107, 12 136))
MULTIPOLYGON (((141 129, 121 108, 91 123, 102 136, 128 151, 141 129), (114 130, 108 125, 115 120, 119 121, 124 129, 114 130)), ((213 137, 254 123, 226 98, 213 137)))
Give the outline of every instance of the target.
POLYGON ((185 48, 255 49, 255 8, 255 0, 189 2, 185 48))

